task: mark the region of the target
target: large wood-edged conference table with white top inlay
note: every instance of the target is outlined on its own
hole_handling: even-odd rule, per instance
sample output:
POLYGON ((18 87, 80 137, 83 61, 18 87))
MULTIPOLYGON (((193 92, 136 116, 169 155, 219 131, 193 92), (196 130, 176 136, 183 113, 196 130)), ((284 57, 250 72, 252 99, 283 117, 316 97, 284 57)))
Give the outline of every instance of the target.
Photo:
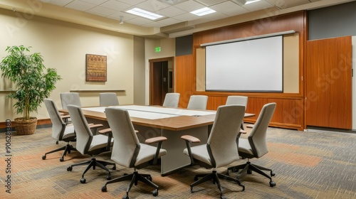
MULTIPOLYGON (((201 140, 199 144, 206 144, 216 111, 182 109, 159 106, 120 105, 120 109, 127 109, 130 119, 139 131, 140 142, 155 136, 165 136, 167 141, 162 143, 162 149, 167 155, 161 158, 161 174, 167 174, 184 166, 190 165, 190 159, 183 154, 185 142, 180 139, 183 135, 192 135, 201 140)), ((109 127, 105 116, 106 107, 83 107, 82 111, 88 123, 100 123, 109 127)), ((67 110, 61 112, 68 113, 67 110)), ((255 114, 245 113, 245 117, 255 114)), ((197 144, 192 144, 195 146, 197 144)))

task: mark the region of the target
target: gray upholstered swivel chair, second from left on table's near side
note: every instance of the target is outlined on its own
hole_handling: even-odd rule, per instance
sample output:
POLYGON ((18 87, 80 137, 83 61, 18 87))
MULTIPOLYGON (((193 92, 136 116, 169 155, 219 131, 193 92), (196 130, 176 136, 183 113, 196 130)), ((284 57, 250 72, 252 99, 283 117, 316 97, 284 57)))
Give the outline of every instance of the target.
POLYGON ((103 127, 102 124, 91 125, 84 117, 82 109, 75 105, 68 104, 67 106, 68 112, 73 122, 73 126, 75 129, 75 133, 77 134, 77 142, 76 147, 77 151, 83 155, 92 156, 90 161, 85 161, 82 163, 75 163, 67 168, 67 171, 72 171, 73 166, 80 166, 88 164, 87 168, 83 172, 82 178, 80 179, 80 183, 85 183, 84 174, 91 168, 95 169, 96 166, 103 168, 105 171, 108 171, 107 179, 110 180, 110 171, 105 166, 112 165, 112 169, 115 170, 115 163, 108 161, 98 161, 94 158, 94 155, 100 154, 102 152, 108 151, 110 149, 110 145, 112 145, 113 139, 110 136, 105 136, 102 134, 93 135, 92 129, 94 127, 103 127))

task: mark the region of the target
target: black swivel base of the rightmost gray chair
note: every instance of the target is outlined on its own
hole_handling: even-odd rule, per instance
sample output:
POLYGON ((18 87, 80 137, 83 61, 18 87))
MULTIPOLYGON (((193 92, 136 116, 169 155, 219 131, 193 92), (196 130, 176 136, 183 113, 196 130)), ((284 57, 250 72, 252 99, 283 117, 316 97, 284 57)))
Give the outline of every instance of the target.
POLYGON ((250 161, 247 161, 244 164, 238 165, 238 166, 231 166, 227 169, 227 175, 229 175, 229 171, 233 171, 233 172, 238 172, 240 169, 243 169, 238 175, 237 178, 241 179, 242 176, 244 176, 246 173, 251 174, 252 171, 255 171, 256 173, 261 174, 262 176, 265 176, 266 178, 268 178, 270 180, 269 185, 271 187, 275 186, 276 183, 272 181, 273 176, 276 176, 276 173, 273 173, 272 169, 270 168, 264 168, 263 166, 258 166, 256 164, 251 163, 250 161), (270 175, 268 176, 266 173, 264 173, 263 171, 270 171, 270 175))

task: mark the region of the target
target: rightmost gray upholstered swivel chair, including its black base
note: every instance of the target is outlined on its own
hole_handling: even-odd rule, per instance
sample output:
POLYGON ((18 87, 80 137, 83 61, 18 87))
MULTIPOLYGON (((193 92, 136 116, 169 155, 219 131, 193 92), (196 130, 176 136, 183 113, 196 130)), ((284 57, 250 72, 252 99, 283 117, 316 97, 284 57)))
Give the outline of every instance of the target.
POLYGON ((266 176, 266 178, 270 179, 269 185, 271 187, 275 186, 276 183, 272 181, 272 176, 275 176, 275 173, 272 172, 270 168, 264 168, 262 166, 255 165, 249 161, 250 158, 261 158, 265 154, 268 153, 267 143, 266 143, 266 134, 269 122, 273 117, 273 112, 276 109, 276 103, 265 104, 260 114, 258 115, 258 119, 256 123, 253 125, 253 128, 248 135, 247 139, 237 139, 239 146, 239 155, 243 158, 247 158, 247 162, 239 165, 232 166, 228 168, 229 171, 237 172, 239 169, 242 171, 238 174, 237 178, 243 177, 246 173, 251 174, 252 171, 256 173, 260 173, 262 176, 266 176), (270 171, 270 175, 268 176, 263 171, 270 171))

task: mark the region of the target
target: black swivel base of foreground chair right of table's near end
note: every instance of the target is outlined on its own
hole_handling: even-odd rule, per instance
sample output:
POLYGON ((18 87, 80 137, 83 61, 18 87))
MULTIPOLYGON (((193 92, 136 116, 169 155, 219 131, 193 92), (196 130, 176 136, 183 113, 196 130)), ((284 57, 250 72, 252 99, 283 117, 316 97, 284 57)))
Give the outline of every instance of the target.
POLYGON ((209 174, 200 174, 200 175, 197 175, 194 177, 194 183, 192 183, 190 185, 190 191, 193 193, 193 187, 196 186, 196 185, 199 185, 201 183, 204 183, 206 181, 209 181, 209 180, 213 180, 213 183, 216 183, 216 185, 218 185, 218 188, 220 190, 220 198, 223 199, 225 198, 225 196, 223 195, 223 188, 221 187, 221 184, 220 184, 220 181, 219 181, 219 178, 220 179, 224 179, 224 180, 228 180, 228 181, 234 181, 236 183, 238 183, 241 187, 242 187, 242 190, 245 190, 245 185, 241 184, 241 182, 239 181, 239 179, 237 178, 231 178, 230 176, 226 176, 224 174, 221 174, 221 173, 217 173, 216 171, 212 171, 212 173, 209 173, 209 174), (200 177, 203 177, 203 178, 200 178, 200 177), (198 179, 200 178, 200 179, 198 179))

